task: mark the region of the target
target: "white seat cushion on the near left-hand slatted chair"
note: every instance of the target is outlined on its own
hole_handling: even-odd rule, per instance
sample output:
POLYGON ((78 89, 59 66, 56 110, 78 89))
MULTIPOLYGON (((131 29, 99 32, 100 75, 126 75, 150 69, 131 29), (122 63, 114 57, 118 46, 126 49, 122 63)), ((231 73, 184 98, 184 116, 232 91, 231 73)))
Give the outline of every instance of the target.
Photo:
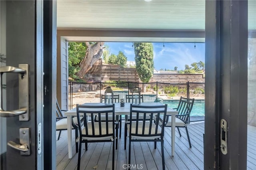
MULTIPOLYGON (((91 122, 87 123, 87 126, 88 126, 88 135, 92 135, 92 123, 91 122)), ((113 133, 112 122, 108 122, 108 133, 110 133, 110 134, 113 133)), ((86 134, 85 128, 82 129, 82 134, 86 134)), ((94 134, 100 135, 98 122, 94 122, 94 134)), ((106 134, 106 123, 101 123, 101 134, 102 135, 106 134)), ((107 140, 107 139, 113 140, 113 136, 82 137, 82 139, 84 139, 84 140, 107 140)))

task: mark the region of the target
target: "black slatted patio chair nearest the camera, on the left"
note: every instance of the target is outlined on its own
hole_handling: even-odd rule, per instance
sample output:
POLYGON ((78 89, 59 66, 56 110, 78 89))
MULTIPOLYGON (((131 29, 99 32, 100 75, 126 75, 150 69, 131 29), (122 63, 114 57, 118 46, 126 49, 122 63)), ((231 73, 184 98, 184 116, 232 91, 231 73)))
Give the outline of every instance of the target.
POLYGON ((113 153, 112 153, 112 169, 114 170, 114 156, 115 156, 115 140, 117 147, 117 136, 118 133, 118 122, 115 122, 114 119, 108 121, 108 116, 115 116, 115 105, 102 105, 102 106, 92 106, 92 105, 76 105, 76 115, 82 119, 78 119, 78 129, 79 129, 79 151, 78 151, 78 165, 77 169, 80 170, 80 159, 81 159, 81 147, 82 143, 85 143, 85 150, 88 149, 88 142, 112 142, 113 153), (87 116, 90 116, 92 119, 95 116, 99 117, 99 121, 90 121, 87 119, 87 116), (101 116, 106 117, 106 121, 101 121, 101 116))

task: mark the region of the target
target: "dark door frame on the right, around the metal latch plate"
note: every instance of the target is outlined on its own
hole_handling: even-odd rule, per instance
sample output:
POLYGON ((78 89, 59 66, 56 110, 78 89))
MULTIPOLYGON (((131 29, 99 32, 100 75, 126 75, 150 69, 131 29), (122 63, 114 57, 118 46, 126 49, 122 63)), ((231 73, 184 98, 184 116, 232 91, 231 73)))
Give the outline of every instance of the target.
POLYGON ((204 169, 246 169, 247 0, 206 0, 204 169), (228 153, 220 152, 220 120, 228 153), (214 140, 213 140, 214 139, 214 140))

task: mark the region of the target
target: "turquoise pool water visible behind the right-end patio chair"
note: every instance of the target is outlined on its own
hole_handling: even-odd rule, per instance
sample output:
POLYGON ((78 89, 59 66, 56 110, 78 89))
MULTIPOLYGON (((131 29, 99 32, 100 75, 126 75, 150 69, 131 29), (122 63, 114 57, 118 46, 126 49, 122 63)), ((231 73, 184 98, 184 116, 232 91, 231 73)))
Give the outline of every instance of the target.
MULTIPOLYGON (((170 108, 178 107, 179 101, 163 101, 170 108)), ((204 116, 204 100, 195 100, 190 116, 204 116)))

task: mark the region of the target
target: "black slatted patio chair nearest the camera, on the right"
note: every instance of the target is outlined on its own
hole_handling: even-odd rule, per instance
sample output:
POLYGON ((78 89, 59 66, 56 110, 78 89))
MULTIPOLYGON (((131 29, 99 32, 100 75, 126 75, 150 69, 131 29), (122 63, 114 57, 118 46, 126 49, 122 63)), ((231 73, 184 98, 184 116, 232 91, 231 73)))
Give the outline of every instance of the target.
MULTIPOLYGON (((163 120, 166 118, 167 105, 132 105, 130 104, 130 117, 135 115, 136 120, 130 119, 125 122, 127 130, 125 130, 124 149, 126 149, 127 132, 129 134, 129 158, 128 164, 131 164, 131 142, 154 142, 154 148, 156 149, 156 142, 161 142, 162 150, 162 169, 164 166, 164 125, 159 124, 159 117, 163 115, 163 120), (139 119, 142 115, 143 119, 139 119), (146 117, 149 116, 150 120, 147 121, 146 117), (153 116, 157 118, 154 123, 153 116)), ((128 167, 129 168, 129 167, 128 167)))

